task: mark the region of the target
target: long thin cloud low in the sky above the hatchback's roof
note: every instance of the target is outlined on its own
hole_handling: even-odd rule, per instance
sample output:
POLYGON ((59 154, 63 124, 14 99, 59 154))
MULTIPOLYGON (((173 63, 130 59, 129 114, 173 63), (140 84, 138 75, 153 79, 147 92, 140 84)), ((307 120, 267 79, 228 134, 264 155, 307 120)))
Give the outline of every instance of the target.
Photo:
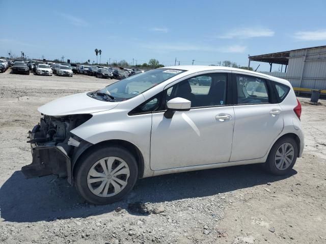
POLYGON ((224 47, 212 47, 205 45, 194 45, 189 43, 148 43, 142 45, 143 48, 156 51, 204 51, 204 52, 229 52, 229 53, 243 53, 247 50, 246 46, 231 45, 224 47))

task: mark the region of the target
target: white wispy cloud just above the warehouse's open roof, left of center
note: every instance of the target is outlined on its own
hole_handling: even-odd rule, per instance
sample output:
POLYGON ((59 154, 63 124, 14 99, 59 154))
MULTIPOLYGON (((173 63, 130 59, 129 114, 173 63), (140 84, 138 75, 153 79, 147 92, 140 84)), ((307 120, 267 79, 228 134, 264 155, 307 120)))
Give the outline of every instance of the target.
POLYGON ((244 27, 244 28, 235 28, 230 32, 225 33, 218 38, 222 39, 247 39, 253 37, 273 37, 275 34, 274 31, 264 27, 244 27))

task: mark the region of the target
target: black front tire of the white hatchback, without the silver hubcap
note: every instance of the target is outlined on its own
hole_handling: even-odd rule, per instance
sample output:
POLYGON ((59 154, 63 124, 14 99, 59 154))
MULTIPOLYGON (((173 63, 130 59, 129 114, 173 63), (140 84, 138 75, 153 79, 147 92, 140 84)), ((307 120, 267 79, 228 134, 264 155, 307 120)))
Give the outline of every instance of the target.
POLYGON ((104 205, 121 200, 132 190, 138 179, 138 166, 135 158, 129 153, 129 151, 121 147, 100 147, 85 155, 78 162, 79 163, 74 170, 74 185, 80 196, 93 204, 104 205), (87 185, 87 175, 91 167, 97 161, 110 156, 123 159, 129 167, 130 175, 127 180, 127 185, 120 193, 112 197, 99 197, 93 194, 89 189, 87 185))

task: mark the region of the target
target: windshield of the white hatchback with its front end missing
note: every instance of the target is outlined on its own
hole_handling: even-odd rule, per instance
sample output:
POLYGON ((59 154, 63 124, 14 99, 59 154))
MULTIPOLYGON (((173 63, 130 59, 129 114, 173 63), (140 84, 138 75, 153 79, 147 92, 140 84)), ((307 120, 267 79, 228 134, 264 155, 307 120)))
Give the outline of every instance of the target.
POLYGON ((181 74, 183 70, 155 69, 117 81, 97 92, 89 93, 90 97, 110 102, 119 102, 133 98, 146 90, 181 74), (107 96, 110 100, 107 100, 107 96))

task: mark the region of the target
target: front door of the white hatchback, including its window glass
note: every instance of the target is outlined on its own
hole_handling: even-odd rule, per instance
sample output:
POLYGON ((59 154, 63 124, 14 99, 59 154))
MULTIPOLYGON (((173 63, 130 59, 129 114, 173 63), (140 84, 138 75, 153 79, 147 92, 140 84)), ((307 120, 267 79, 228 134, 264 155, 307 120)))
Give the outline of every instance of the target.
POLYGON ((174 82, 163 92, 164 103, 181 97, 192 102, 189 111, 152 114, 150 167, 152 170, 228 162, 234 111, 229 105, 231 73, 208 73, 174 82), (209 80, 199 85, 191 79, 209 80), (192 84, 192 85, 191 85, 192 84))

